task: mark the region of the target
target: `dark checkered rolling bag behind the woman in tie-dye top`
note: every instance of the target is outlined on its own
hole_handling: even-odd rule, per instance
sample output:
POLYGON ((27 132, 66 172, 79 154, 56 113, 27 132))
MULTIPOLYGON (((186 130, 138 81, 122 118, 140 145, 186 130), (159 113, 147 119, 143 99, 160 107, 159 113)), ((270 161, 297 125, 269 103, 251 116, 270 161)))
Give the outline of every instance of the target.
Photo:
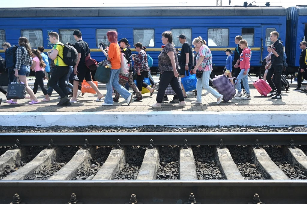
MULTIPOLYGON (((224 74, 215 76, 215 78, 211 79, 210 81, 212 85, 216 88, 217 92, 222 94, 223 101, 227 102, 231 100, 235 96, 235 85, 233 85, 227 76, 224 74)), ((235 77, 232 77, 232 79, 236 79, 235 77)))

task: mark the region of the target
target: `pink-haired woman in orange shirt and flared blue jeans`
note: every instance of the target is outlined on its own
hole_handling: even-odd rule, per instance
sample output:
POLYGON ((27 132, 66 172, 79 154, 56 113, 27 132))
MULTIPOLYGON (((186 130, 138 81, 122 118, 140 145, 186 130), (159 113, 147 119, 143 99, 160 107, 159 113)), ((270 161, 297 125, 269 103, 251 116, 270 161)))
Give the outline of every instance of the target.
POLYGON ((114 30, 107 32, 108 41, 111 43, 108 52, 104 51, 103 47, 100 46, 100 50, 110 60, 112 66, 110 80, 106 84, 107 94, 105 96, 104 103, 101 105, 107 105, 107 106, 113 105, 112 86, 124 99, 127 100, 128 105, 131 103, 132 100, 132 93, 129 93, 122 85, 118 83, 119 73, 121 68, 120 66, 121 51, 117 43, 117 34, 118 33, 114 30))

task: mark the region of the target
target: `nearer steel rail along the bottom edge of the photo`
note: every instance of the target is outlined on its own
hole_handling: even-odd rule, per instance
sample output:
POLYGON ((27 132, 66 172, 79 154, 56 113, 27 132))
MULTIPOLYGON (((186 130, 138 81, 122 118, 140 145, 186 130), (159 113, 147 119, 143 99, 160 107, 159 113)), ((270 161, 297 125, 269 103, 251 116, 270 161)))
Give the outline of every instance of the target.
POLYGON ((264 203, 306 203, 304 180, 89 180, 0 181, 0 203, 18 193, 22 202, 65 203, 75 193, 83 203, 126 203, 136 194, 138 202, 187 202, 190 193, 201 203, 248 203, 258 193, 264 203))

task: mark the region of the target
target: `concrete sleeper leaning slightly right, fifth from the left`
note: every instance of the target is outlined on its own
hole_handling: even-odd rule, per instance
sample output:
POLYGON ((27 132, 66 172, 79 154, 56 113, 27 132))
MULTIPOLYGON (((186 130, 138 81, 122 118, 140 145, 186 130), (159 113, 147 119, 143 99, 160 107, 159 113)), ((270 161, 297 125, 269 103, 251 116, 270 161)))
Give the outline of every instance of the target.
POLYGON ((160 157, 158 149, 146 149, 137 180, 153 180, 157 178, 160 157))

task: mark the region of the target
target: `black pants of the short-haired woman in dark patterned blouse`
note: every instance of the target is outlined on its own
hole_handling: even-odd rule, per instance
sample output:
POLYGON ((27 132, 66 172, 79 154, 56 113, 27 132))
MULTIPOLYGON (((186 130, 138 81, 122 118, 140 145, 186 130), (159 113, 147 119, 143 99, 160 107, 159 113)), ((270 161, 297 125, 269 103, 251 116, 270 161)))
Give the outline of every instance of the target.
POLYGON ((184 101, 185 98, 183 97, 182 90, 180 88, 180 84, 178 82, 178 79, 175 77, 173 71, 167 71, 163 72, 161 75, 161 79, 159 82, 159 89, 157 93, 157 103, 162 103, 162 99, 165 93, 166 88, 170 84, 172 86, 172 89, 177 94, 179 101, 184 101))

